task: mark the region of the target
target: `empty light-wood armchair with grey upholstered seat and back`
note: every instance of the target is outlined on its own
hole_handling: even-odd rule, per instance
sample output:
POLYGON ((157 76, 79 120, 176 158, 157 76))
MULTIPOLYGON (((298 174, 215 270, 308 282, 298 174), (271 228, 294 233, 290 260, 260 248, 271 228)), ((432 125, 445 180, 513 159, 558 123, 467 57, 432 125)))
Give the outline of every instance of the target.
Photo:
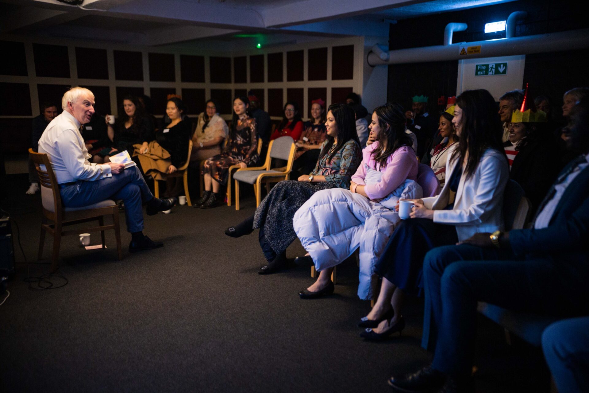
POLYGON ((260 195, 262 194, 261 185, 266 183, 266 190, 270 191, 269 183, 282 180, 289 180, 290 170, 294 162, 294 151, 296 146, 291 137, 280 137, 270 141, 268 153, 266 154, 266 163, 261 167, 240 168, 234 174, 235 179, 235 210, 239 210, 239 182, 254 185, 256 194, 256 207, 260 206, 260 195), (270 169, 272 158, 287 160, 284 170, 270 169))

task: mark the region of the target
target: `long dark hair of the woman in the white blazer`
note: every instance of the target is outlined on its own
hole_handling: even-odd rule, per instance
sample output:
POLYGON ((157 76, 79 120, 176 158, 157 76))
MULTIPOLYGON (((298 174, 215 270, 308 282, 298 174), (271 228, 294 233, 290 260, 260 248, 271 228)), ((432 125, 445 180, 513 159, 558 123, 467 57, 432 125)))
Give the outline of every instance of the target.
MULTIPOLYGON (((477 170, 482 154, 494 148, 505 156, 502 138, 501 118, 497 103, 491 93, 484 89, 466 90, 456 98, 456 106, 462 110, 458 148, 452 154, 452 161, 468 160, 464 173, 471 177, 477 170)), ((507 160, 507 157, 505 158, 507 160)))

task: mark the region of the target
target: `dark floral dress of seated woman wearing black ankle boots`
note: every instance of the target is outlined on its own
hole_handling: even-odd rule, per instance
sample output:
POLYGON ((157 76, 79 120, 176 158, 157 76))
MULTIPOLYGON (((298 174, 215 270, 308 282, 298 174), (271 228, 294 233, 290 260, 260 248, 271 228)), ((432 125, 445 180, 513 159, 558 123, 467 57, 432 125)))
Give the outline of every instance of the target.
POLYGON ((229 142, 223 153, 204 161, 202 174, 208 173, 220 184, 227 184, 229 167, 239 163, 256 166, 260 162, 257 154, 256 120, 243 117, 231 126, 229 142))

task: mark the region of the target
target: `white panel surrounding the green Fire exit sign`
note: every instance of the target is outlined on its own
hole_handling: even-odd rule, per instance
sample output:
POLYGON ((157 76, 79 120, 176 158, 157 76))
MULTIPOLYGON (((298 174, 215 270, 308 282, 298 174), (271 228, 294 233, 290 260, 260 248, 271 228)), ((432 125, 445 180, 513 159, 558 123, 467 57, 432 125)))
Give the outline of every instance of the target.
POLYGON ((458 84, 456 95, 465 90, 487 89, 499 101, 499 97, 507 91, 521 89, 524 83, 525 55, 484 57, 458 61, 458 84), (477 64, 507 62, 507 74, 477 76, 477 64))

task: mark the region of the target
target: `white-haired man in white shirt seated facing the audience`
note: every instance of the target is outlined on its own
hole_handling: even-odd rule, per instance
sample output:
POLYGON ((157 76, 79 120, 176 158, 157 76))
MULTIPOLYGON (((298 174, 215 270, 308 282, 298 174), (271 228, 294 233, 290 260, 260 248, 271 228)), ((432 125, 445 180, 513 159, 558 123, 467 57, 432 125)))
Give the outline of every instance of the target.
POLYGON ((41 139, 39 153, 46 153, 59 183, 65 206, 82 207, 105 199, 122 199, 125 203, 127 231, 131 232, 130 252, 163 246, 143 235, 143 204, 148 216, 168 210, 176 198, 158 199, 136 166, 125 169, 122 164, 91 164, 90 154, 80 133, 94 113, 94 94, 74 87, 61 100, 64 111, 49 123, 41 139))

